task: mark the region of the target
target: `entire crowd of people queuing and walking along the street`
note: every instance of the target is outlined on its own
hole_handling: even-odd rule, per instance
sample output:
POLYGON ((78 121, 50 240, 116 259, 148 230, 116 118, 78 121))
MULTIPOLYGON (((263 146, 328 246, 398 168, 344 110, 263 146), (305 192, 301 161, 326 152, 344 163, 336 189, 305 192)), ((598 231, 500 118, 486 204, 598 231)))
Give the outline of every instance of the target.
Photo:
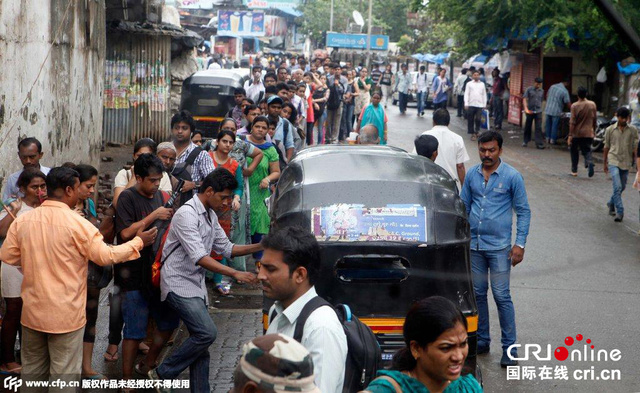
MULTIPOLYGON (((516 342, 509 275, 524 258, 531 213, 522 176, 500 158, 503 113, 498 101, 504 83, 499 71, 494 70, 488 95, 481 72, 473 69, 463 70, 452 84, 445 70, 428 83, 424 68, 410 78, 406 66, 394 74, 390 66, 369 73, 365 67, 343 68, 328 59, 305 63, 298 60, 266 73, 261 64, 255 65, 252 79, 235 91, 235 106, 220 123, 215 140, 205 141, 193 117, 181 111, 171 119, 170 141, 137 141, 133 166, 115 177, 112 206, 101 222, 93 200, 96 168, 79 163, 47 168, 40 164, 44 152, 37 139, 19 142, 23 169, 8 177, 0 212, 6 302, 0 372, 33 379, 105 378, 92 368, 91 359, 100 290, 113 277, 104 359, 113 362, 121 356, 124 379, 134 378, 134 373, 175 379, 189 368, 192 391, 209 391, 209 346, 217 329, 208 313, 206 283, 211 281, 225 296, 232 284, 260 282, 265 296, 275 302, 269 311, 272 319, 266 336, 243 347, 234 391, 277 386, 282 391, 341 392, 349 378, 344 367, 349 348, 335 311, 316 307, 306 316, 299 343, 291 338, 305 306, 318 298, 318 243, 308 229, 272 230, 265 200, 294 153, 305 145, 341 143, 352 133, 360 144, 386 144, 389 97, 397 91, 404 112, 410 89, 422 103, 430 91, 437 107, 434 127, 416 138, 414 153, 455 180, 469 216, 479 313, 477 353, 490 351, 491 285, 502 333, 500 363, 517 364, 512 359, 515 352, 507 351, 516 342), (449 129, 444 97, 450 88, 462 103, 458 115, 467 116, 469 133, 478 142, 481 163, 468 171, 464 141, 449 129), (478 113, 488 101, 495 131, 479 134, 478 113), (189 338, 158 364, 179 321, 189 338), (21 363, 13 350, 18 331, 21 363), (144 356, 137 362, 140 353, 144 356)), ((536 144, 543 143, 541 82, 536 80, 525 93, 525 145, 533 121, 536 144)), ((561 86, 552 89, 546 106, 551 111, 546 113, 547 143, 558 135, 556 114, 549 106, 567 103, 566 85, 564 91, 561 86)), ((585 89, 578 89, 578 97, 571 108, 572 174, 577 175, 582 152, 592 176, 586 146, 593 137, 595 105, 586 99, 585 89)), ((423 114, 419 103, 417 115, 423 114)), ((640 149, 629 117, 628 109, 619 109, 617 124, 605 136, 605 171, 614 178, 607 205, 618 222, 624 215, 621 193, 640 149)), ((636 186, 638 181, 636 177, 636 186)), ((457 306, 446 299, 417 302, 404 324, 406 348, 395 355, 392 370, 381 371, 365 391, 481 391, 473 376, 461 376, 469 349, 466 324, 457 306)))

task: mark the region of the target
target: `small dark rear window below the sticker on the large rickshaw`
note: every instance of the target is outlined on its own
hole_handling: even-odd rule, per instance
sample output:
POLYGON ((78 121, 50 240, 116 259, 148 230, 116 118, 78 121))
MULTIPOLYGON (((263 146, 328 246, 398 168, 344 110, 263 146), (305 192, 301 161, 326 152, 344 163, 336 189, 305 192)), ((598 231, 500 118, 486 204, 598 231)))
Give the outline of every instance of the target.
POLYGON ((398 283, 409 277, 411 265, 395 255, 350 255, 338 260, 335 272, 344 283, 398 283))

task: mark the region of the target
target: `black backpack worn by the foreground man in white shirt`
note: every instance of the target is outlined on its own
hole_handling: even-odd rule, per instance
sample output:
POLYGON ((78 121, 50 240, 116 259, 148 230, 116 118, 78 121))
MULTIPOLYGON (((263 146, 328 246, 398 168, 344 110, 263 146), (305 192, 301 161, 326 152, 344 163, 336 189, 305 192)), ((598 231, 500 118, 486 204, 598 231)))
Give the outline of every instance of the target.
MULTIPOLYGON (((359 392, 364 390, 371 381, 376 378, 376 373, 380 366, 381 350, 380 344, 369 326, 362 323, 358 317, 351 313, 351 309, 346 304, 339 304, 337 307, 320 296, 311 299, 302 308, 298 319, 293 338, 302 342, 304 324, 309 315, 320 307, 331 307, 338 316, 342 324, 344 334, 347 336, 347 361, 344 371, 344 393, 359 392)), ((276 311, 271 313, 269 323, 276 317, 276 311)))

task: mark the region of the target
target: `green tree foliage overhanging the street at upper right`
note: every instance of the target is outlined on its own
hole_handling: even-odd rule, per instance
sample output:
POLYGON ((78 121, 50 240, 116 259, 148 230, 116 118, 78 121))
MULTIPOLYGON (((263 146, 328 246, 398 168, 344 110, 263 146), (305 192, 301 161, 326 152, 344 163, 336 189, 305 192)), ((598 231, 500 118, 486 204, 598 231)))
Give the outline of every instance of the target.
MULTIPOLYGON (((630 24, 640 28, 640 0, 614 0, 630 24)), ((433 22, 435 36, 452 35, 456 51, 473 55, 488 42, 524 39, 545 50, 579 45, 591 56, 627 49, 591 0, 413 0, 412 7, 433 22)), ((437 47, 426 37, 424 47, 437 47)), ((489 45, 490 46, 490 45, 489 45)))

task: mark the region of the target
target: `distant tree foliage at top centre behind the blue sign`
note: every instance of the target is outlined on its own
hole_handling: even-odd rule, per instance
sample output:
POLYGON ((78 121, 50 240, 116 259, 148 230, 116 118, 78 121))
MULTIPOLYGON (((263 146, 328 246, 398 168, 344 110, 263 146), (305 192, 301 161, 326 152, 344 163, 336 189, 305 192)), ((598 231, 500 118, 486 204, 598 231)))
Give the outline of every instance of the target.
MULTIPOLYGON (((404 34, 411 34, 407 26, 407 11, 412 0, 393 0, 392 7, 387 0, 373 0, 373 26, 384 29, 390 41, 397 41, 404 34)), ((329 31, 331 19, 331 0, 309 0, 299 7, 303 13, 300 17, 301 30, 309 35, 316 44, 322 43, 323 35, 329 31)), ((346 32, 349 23, 353 23, 352 13, 360 11, 367 31, 367 16, 369 12, 368 0, 334 0, 333 30, 346 32)))

